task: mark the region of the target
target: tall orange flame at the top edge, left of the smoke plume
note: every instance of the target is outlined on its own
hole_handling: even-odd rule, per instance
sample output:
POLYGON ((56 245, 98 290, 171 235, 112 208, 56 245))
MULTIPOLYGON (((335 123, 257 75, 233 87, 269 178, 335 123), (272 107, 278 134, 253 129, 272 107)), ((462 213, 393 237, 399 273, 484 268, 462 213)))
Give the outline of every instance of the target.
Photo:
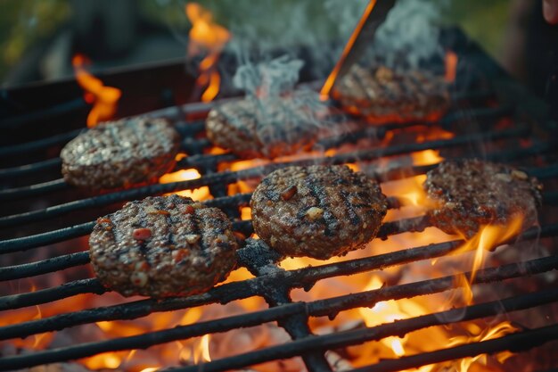
POLYGON ((200 4, 186 4, 185 12, 192 22, 188 55, 207 53, 200 63, 200 77, 196 81, 198 87, 206 87, 201 94, 201 102, 213 100, 219 93, 221 77, 216 70, 219 54, 231 38, 231 34, 213 21, 213 15, 200 4))

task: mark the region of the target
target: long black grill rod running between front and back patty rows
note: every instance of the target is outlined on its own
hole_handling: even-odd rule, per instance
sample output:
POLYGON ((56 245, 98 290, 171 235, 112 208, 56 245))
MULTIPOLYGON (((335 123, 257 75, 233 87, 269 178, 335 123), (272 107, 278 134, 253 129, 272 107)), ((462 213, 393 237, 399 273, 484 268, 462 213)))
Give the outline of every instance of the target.
POLYGON ((393 145, 372 150, 360 150, 352 153, 339 153, 327 158, 311 159, 304 161, 291 161, 285 163, 272 163, 262 167, 243 169, 239 171, 224 171, 215 174, 202 176, 201 178, 178 181, 168 184, 158 184, 144 187, 137 187, 117 193, 103 194, 99 196, 81 199, 70 203, 62 203, 43 210, 29 211, 11 216, 0 218, 0 227, 12 227, 20 223, 35 222, 60 216, 70 211, 79 211, 85 208, 100 207, 111 203, 119 203, 125 200, 133 200, 153 194, 171 193, 178 190, 198 188, 201 186, 211 186, 216 184, 229 184, 242 179, 257 178, 275 169, 293 164, 340 164, 346 162, 373 160, 382 156, 398 155, 402 153, 414 153, 429 149, 441 149, 455 145, 466 145, 471 142, 486 140, 504 139, 513 136, 524 136, 529 132, 529 127, 518 126, 517 128, 507 129, 497 132, 476 133, 469 136, 458 136, 446 140, 428 141, 420 144, 393 145))

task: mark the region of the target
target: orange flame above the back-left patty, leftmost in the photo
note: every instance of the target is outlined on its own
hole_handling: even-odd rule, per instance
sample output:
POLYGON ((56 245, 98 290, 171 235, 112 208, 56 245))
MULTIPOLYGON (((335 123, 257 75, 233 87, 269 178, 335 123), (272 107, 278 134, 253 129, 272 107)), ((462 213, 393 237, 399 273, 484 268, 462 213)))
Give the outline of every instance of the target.
POLYGON ((93 104, 93 108, 87 116, 87 127, 93 128, 100 121, 110 120, 116 113, 122 95, 120 89, 105 87, 103 81, 87 72, 85 65, 88 61, 85 56, 76 54, 71 63, 74 66, 79 86, 85 90, 84 99, 86 103, 93 104))

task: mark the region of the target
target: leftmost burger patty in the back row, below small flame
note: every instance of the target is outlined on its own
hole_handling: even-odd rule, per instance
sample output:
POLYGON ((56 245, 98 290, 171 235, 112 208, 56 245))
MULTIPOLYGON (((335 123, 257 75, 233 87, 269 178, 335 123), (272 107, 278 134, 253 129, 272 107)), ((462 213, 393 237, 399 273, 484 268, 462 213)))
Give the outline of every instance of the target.
POLYGON ((179 145, 167 120, 105 122, 62 149, 62 175, 70 185, 93 190, 156 182, 173 169, 179 145))

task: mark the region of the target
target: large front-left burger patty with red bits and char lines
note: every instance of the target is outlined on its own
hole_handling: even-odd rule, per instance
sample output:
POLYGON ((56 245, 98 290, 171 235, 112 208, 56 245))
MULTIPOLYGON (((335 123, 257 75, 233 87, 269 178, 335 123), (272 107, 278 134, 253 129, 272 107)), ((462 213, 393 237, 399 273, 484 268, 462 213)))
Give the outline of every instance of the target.
POLYGON ((129 202, 97 219, 89 237, 94 272, 124 296, 208 291, 234 269, 238 244, 225 213, 178 195, 129 202))

